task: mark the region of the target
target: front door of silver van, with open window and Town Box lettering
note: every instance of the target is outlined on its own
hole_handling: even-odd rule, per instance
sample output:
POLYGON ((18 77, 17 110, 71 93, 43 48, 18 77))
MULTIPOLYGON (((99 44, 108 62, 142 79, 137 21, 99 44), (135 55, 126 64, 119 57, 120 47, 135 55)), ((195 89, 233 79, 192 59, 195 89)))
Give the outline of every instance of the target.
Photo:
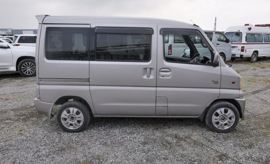
POLYGON ((199 116, 209 101, 219 97, 221 73, 220 67, 213 67, 214 47, 197 29, 158 26, 158 31, 157 97, 167 98, 169 116, 199 116), (164 35, 181 36, 190 56, 166 56, 164 35))

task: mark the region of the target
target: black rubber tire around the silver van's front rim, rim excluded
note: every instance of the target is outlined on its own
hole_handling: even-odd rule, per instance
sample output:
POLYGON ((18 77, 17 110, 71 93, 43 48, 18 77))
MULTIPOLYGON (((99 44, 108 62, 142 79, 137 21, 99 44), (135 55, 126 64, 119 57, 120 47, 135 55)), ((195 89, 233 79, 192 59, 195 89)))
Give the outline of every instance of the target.
MULTIPOLYGON (((225 109, 226 110, 226 109, 225 109)), ((224 110, 224 111, 225 111, 224 110)), ((225 112, 224 112, 225 113, 225 112)), ((223 114, 224 114, 223 113, 223 114)), ((227 112, 228 113, 228 112, 227 112)), ((225 115, 227 114, 225 113, 225 115)), ((219 116, 219 118, 222 118, 223 116, 219 116)), ((229 116, 228 116, 229 117, 229 116)), ((232 117, 229 117, 229 118, 232 118, 232 117)), ((228 118, 228 119, 229 119, 228 118)), ((227 121, 227 117, 225 118, 224 117, 224 121, 227 121)), ((217 120, 218 121, 218 120, 217 120)), ((222 121, 222 120, 221 120, 222 121)), ((206 115, 205 115, 205 123, 207 124, 207 126, 214 132, 218 132, 218 133, 227 133, 227 132, 231 132, 233 129, 235 129, 235 127, 237 126, 238 124, 238 121, 239 121, 239 112, 237 110, 237 108, 227 102, 227 101, 217 101, 213 104, 211 104, 206 112, 206 115), (217 127, 214 126, 213 122, 212 122, 212 116, 216 113, 216 111, 218 109, 221 109, 221 108, 227 108, 227 109, 230 109, 233 113, 234 113, 234 122, 231 126, 229 126, 229 124, 226 125, 226 122, 224 122, 223 124, 225 124, 227 126, 226 129, 219 129, 217 127)), ((220 124, 220 123, 219 123, 220 124)))

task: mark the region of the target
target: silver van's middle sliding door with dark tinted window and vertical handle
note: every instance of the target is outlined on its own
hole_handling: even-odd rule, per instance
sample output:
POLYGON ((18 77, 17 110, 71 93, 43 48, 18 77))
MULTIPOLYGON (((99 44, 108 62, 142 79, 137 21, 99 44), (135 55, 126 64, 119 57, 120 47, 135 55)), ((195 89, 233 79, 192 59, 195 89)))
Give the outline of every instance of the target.
POLYGON ((96 44, 90 61, 90 93, 95 112, 100 116, 154 116, 157 33, 153 29, 157 26, 111 26, 92 30, 96 44))

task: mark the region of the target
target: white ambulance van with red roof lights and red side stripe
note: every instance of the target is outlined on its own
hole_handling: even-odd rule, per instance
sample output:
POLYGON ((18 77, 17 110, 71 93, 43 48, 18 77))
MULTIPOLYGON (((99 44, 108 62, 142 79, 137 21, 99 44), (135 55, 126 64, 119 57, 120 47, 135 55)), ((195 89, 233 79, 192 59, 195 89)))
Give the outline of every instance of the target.
MULTIPOLYGON (((269 24, 266 24, 269 26, 269 24)), ((264 25, 265 26, 265 25, 264 25)), ((258 57, 270 56, 270 28, 251 24, 231 26, 225 31, 231 40, 231 60, 248 58, 252 63, 258 57)))

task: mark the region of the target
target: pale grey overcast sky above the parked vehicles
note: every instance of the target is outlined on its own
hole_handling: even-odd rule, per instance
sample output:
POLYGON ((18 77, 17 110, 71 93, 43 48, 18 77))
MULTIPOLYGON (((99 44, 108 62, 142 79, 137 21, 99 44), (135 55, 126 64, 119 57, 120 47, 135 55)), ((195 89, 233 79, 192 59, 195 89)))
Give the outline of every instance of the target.
POLYGON ((204 30, 269 24, 269 0, 0 0, 0 29, 37 29, 35 15, 128 16, 171 19, 204 30), (3 14, 4 13, 4 14, 3 14))

